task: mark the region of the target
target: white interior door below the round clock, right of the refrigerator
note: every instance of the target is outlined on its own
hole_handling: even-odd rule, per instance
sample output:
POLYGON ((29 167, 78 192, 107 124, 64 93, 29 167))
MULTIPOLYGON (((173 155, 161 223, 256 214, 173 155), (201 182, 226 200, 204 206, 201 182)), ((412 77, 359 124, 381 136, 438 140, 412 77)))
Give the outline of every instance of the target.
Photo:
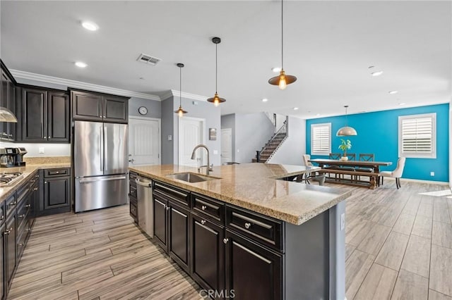
POLYGON ((160 119, 129 117, 129 165, 160 165, 160 119))

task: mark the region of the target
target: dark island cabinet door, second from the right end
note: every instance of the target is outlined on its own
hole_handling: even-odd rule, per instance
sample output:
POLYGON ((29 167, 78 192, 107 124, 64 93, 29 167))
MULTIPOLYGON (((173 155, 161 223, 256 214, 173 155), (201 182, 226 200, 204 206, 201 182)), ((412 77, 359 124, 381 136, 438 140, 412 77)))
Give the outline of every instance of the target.
POLYGON ((191 214, 191 277, 203 289, 225 291, 224 238, 225 226, 191 214))

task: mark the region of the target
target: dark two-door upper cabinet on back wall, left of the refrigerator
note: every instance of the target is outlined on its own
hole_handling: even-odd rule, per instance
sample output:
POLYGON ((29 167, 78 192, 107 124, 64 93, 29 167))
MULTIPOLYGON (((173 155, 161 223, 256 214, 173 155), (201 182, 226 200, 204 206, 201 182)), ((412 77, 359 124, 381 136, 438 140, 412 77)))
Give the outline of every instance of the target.
POLYGON ((69 142, 69 95, 37 87, 22 87, 24 142, 69 142))

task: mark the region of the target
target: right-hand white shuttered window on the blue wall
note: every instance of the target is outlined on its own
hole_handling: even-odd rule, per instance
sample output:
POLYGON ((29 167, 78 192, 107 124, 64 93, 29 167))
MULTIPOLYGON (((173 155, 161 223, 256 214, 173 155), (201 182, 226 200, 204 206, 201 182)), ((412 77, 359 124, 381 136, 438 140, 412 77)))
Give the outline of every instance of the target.
POLYGON ((398 117, 398 156, 436 158, 436 113, 398 117))

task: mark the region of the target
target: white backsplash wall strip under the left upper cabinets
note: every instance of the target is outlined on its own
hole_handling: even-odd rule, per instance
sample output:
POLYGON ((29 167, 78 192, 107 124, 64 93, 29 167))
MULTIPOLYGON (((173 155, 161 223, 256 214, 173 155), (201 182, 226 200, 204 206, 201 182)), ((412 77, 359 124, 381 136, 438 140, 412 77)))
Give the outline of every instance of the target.
POLYGON ((27 149, 26 157, 47 157, 47 156, 71 156, 71 144, 23 144, 0 142, 0 148, 18 148, 27 149), (40 148, 44 148, 44 153, 40 154, 40 148))

